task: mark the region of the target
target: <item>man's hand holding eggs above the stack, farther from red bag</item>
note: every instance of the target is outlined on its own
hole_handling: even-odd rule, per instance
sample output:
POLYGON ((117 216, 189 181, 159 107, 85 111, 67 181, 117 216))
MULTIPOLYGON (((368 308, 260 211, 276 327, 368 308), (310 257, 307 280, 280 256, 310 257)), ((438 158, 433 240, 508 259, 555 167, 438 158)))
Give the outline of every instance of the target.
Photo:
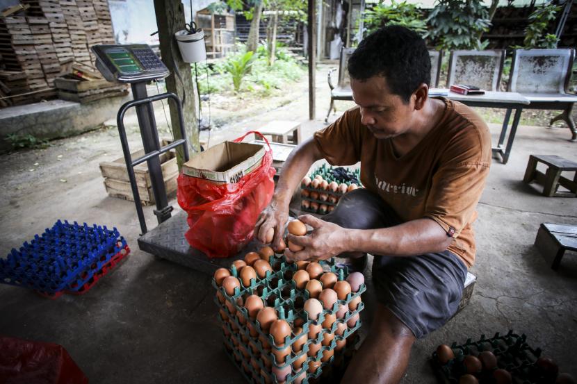
POLYGON ((295 236, 291 233, 286 236, 286 240, 304 247, 298 252, 286 248, 284 255, 289 261, 326 260, 339 253, 350 251, 345 228, 312 215, 303 215, 298 219, 304 224, 309 224, 313 230, 304 236, 295 236))

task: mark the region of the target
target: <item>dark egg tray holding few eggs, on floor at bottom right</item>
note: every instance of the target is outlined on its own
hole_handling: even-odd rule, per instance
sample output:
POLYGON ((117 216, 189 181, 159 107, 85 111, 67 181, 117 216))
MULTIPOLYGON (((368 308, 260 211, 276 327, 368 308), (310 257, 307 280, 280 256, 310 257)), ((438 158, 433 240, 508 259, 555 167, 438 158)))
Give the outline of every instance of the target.
MULTIPOLYGON (((432 353, 431 365, 437 377, 443 383, 458 383, 460 376, 466 374, 466 369, 462 364, 465 356, 477 356, 482 351, 491 351, 497 358, 498 368, 507 369, 510 372, 513 382, 518 384, 540 383, 542 372, 535 367, 535 362, 541 356, 541 349, 533 349, 526 342, 526 335, 517 335, 509 330, 506 335, 495 333, 489 339, 481 335, 476 342, 467 339, 464 344, 457 345, 453 342, 450 348, 455 353, 455 358, 446 365, 441 365, 437 359, 437 351, 432 353)), ((494 379, 482 372, 478 375, 480 383, 493 383, 494 379), (485 377, 487 376, 487 377, 485 377)))

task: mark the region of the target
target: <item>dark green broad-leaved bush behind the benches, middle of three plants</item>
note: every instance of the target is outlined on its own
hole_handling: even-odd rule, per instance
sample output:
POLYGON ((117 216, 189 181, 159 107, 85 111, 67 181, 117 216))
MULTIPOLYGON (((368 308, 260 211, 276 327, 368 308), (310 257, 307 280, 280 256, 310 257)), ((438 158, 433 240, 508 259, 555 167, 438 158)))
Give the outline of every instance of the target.
POLYGON ((480 36, 489 31, 489 11, 480 0, 438 0, 427 18, 437 49, 485 49, 480 36))

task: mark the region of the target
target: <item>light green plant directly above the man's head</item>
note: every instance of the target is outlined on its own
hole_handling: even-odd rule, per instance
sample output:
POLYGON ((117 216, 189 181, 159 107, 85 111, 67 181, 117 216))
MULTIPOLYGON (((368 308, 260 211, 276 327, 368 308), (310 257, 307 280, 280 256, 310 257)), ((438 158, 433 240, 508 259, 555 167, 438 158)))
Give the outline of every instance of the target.
POLYGON ((368 35, 382 26, 400 25, 412 29, 420 35, 427 32, 427 24, 423 20, 423 14, 414 4, 407 1, 397 2, 391 0, 391 5, 387 6, 383 0, 373 8, 364 12, 363 26, 368 35))

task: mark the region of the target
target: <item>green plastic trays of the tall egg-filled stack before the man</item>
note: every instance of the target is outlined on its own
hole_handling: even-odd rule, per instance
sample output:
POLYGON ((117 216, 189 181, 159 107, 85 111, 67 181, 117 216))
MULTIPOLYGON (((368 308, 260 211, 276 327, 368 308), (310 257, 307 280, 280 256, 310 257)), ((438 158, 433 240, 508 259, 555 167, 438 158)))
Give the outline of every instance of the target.
MULTIPOLYGON (((348 322, 348 320, 351 317, 357 315, 359 312, 361 312, 361 310, 364 309, 364 303, 360 301, 356 310, 354 311, 349 310, 348 314, 344 319, 336 319, 336 322, 334 322, 332 328, 330 329, 322 328, 322 330, 318 333, 316 339, 309 340, 307 336, 307 342, 305 342, 305 344, 303 345, 300 353, 295 355, 295 353, 291 351, 291 354, 286 357, 286 360, 284 362, 277 363, 276 358, 272 353, 272 349, 276 349, 277 351, 279 351, 282 349, 286 349, 286 347, 291 347, 291 345, 293 344, 293 342, 295 342, 295 340, 297 340, 303 334, 309 333, 310 324, 315 325, 322 324, 325 320, 325 314, 336 313, 336 311, 339 308, 339 304, 344 304, 348 306, 348 303, 350 303, 352 299, 355 299, 357 296, 365 292, 366 284, 363 283, 361 287, 359 287, 359 290, 357 292, 351 292, 350 294, 348 294, 345 300, 339 300, 336 303, 334 303, 332 310, 323 310, 323 312, 320 313, 317 320, 311 320, 309 319, 307 312, 304 312, 302 308, 295 308, 295 301, 297 301, 298 299, 301 299, 302 303, 304 303, 304 301, 309 299, 309 292, 307 290, 298 290, 295 287, 294 281, 292 280, 292 274, 297 270, 296 264, 286 262, 284 256, 277 256, 277 255, 271 256, 269 261, 270 265, 273 266, 273 269, 278 269, 276 272, 268 271, 264 278, 258 278, 258 277, 256 279, 253 278, 249 287, 243 287, 241 283, 241 287, 236 288, 232 296, 229 296, 227 292, 225 292, 223 287, 218 287, 218 285, 216 285, 216 281, 214 280, 214 278, 212 281, 213 287, 215 287, 216 290, 220 291, 220 293, 225 297, 224 304, 220 303, 220 301, 218 301, 218 298, 215 298, 217 306, 220 307, 218 319, 222 324, 225 346, 227 347, 227 349, 233 351, 234 354, 234 358, 232 359, 233 362, 236 364, 238 369, 243 373, 245 378, 247 378, 247 380, 252 383, 259 383, 259 381, 257 381, 255 378, 262 377, 262 372, 265 372, 265 374, 268 375, 268 381, 265 381, 264 378, 262 378, 260 383, 265 383, 269 381, 272 383, 278 383, 278 381, 273 374, 270 374, 271 369, 266 368, 266 366, 264 365, 263 361, 260 358, 256 358, 255 353, 252 351, 250 347, 245 348, 245 353, 247 353, 247 355, 250 356, 250 358, 255 358, 255 360, 257 360, 259 369, 258 370, 255 369, 255 367, 253 367, 250 364, 250 362, 246 361, 247 359, 245 359, 241 353, 238 353, 238 350, 235 349, 234 346, 232 345, 231 337, 234 337, 240 345, 243 345, 245 344, 245 342, 243 342, 242 340, 244 336, 245 340, 249 340, 254 344, 255 347, 257 347, 258 353, 261 356, 268 356, 270 361, 273 362, 273 365, 275 365, 278 368, 284 368, 287 365, 291 365, 293 362, 295 362, 295 360, 298 360, 298 358, 300 358, 303 354, 307 354, 309 351, 310 344, 318 344, 322 342, 325 333, 327 332, 334 333, 336 331, 337 323, 348 322), (289 277, 288 274, 290 274, 290 278, 287 278, 289 277), (242 297, 244 294, 256 294, 257 296, 261 297, 266 306, 272 306, 273 308, 275 308, 275 310, 277 310, 277 312, 279 312, 279 319, 285 319, 287 322, 289 322, 289 324, 293 324, 294 320, 297 319, 298 317, 304 319, 304 324, 302 325, 302 333, 299 333, 298 335, 291 333, 291 337, 286 337, 285 342, 283 343, 284 345, 282 347, 277 347, 277 345, 275 345, 273 337, 262 331, 259 322, 256 319, 254 320, 250 319, 247 310, 242 306, 237 305, 236 303, 237 299, 239 297, 242 297), (269 302, 269 299, 271 297, 274 297, 273 305, 270 305, 269 302), (228 306, 234 306, 234 309, 237 312, 242 313, 242 315, 246 319, 245 325, 239 322, 236 314, 233 314, 229 310, 229 308, 227 308, 228 306), (226 315, 228 319, 225 319, 222 316, 223 313, 226 315), (234 324, 234 326, 232 326, 231 323, 234 324), (258 335, 256 338, 250 335, 250 331, 248 329, 249 323, 252 324, 254 329, 257 330, 258 335), (268 340, 271 351, 267 351, 263 347, 263 344, 260 340, 261 337, 268 340), (252 374, 252 379, 246 376, 244 372, 245 369, 243 369, 242 367, 243 363, 245 363, 248 370, 252 374)), ((319 261, 319 263, 320 265, 323 265, 323 273, 328 272, 324 271, 325 266, 330 267, 330 272, 336 274, 339 281, 344 280, 348 276, 348 268, 337 267, 336 265, 334 265, 333 259, 330 259, 328 261, 319 261)), ((236 271, 234 265, 231 266, 231 275, 238 278, 238 272, 236 271)), ((297 378, 300 374, 302 374, 303 371, 307 371, 310 361, 320 360, 320 358, 323 357, 323 351, 327 349, 334 349, 334 347, 336 347, 336 340, 343 340, 348 338, 350 335, 355 333, 355 331, 357 331, 357 329, 359 329, 360 326, 361 326, 361 320, 358 319, 355 326, 353 326, 352 328, 349 328, 347 326, 347 329, 346 331, 344 331, 343 335, 341 336, 334 335, 334 339, 332 340, 331 344, 328 346, 320 347, 319 351, 316 353, 316 356, 309 356, 307 360, 304 361, 301 369, 298 372, 291 373, 289 376, 286 377, 286 383, 287 384, 292 383, 295 380, 295 378, 297 378)), ((346 347, 350 348, 351 346, 347 343, 346 347)), ((320 367, 318 367, 318 369, 314 374, 310 374, 307 372, 306 379, 305 381, 303 381, 303 383, 308 383, 308 380, 311 378, 318 378, 321 374, 323 374, 323 368, 325 369, 329 368, 333 360, 334 356, 332 356, 329 360, 323 362, 320 365, 320 367)))

